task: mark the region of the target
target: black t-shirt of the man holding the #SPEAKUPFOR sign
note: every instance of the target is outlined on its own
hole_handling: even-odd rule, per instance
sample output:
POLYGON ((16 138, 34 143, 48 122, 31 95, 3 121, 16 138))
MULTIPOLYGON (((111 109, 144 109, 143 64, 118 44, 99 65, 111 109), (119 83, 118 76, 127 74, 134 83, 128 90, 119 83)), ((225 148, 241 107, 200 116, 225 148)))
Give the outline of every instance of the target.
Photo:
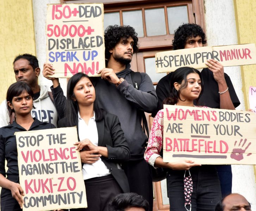
MULTIPOLYGON (((156 86, 156 95, 158 97, 157 109, 152 112, 152 117, 155 117, 157 112, 163 108, 163 100, 170 95, 171 90, 171 75, 173 72, 170 72, 167 76, 161 78, 156 86)), ((198 101, 199 106, 207 106, 210 108, 220 108, 220 96, 219 96, 219 86, 217 81, 213 77, 213 72, 208 68, 204 68, 201 71, 203 83, 204 83, 204 92, 198 101)), ((229 94, 231 101, 233 102, 234 107, 240 105, 240 101, 236 95, 236 91, 233 87, 233 84, 230 80, 230 77, 224 73, 224 77, 229 87, 229 94)))

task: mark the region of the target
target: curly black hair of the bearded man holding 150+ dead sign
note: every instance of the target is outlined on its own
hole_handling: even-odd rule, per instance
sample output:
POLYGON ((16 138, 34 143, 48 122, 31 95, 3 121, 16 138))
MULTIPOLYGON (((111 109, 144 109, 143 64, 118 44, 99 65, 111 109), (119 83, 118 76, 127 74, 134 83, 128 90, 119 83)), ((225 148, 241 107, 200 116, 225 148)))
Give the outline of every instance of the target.
POLYGON ((138 52, 138 37, 135 29, 131 26, 108 26, 105 30, 105 58, 110 58, 110 50, 113 49, 117 43, 120 41, 121 38, 129 38, 132 37, 134 44, 133 44, 133 53, 138 52))

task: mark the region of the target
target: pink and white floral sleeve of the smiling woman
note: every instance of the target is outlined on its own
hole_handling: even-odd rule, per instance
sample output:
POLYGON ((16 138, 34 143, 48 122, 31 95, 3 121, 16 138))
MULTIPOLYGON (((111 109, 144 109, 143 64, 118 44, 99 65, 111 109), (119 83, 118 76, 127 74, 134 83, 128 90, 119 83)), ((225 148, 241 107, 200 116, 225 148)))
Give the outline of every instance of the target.
POLYGON ((144 159, 151 166, 154 166, 155 160, 160 156, 163 146, 163 109, 158 111, 155 116, 152 128, 149 134, 148 146, 146 148, 144 159))

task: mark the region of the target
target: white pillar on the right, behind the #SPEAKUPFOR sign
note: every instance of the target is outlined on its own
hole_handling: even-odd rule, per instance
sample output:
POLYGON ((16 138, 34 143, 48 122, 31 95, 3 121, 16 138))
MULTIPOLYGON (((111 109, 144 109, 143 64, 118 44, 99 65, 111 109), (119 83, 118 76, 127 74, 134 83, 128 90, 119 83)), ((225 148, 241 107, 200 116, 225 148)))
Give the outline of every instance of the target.
MULTIPOLYGON (((232 0, 205 0, 205 22, 208 46, 237 44, 235 11, 232 0)), ((242 93, 240 67, 225 67, 230 76, 241 105, 237 110, 245 110, 242 93)), ((242 194, 256 210, 256 184, 253 166, 232 165, 233 193, 242 194)))

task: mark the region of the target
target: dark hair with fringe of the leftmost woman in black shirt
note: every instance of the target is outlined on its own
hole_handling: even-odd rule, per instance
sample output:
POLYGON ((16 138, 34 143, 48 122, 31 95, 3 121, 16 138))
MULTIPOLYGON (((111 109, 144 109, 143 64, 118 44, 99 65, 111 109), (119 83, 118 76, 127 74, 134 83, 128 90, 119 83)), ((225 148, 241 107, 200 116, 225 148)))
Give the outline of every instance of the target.
MULTIPOLYGON (((13 83, 7 90, 6 103, 7 102, 12 103, 13 97, 17 97, 17 96, 21 95, 24 91, 27 91, 27 94, 29 94, 32 98, 34 97, 34 93, 29 84, 27 84, 23 81, 13 83)), ((35 108, 35 107, 33 106, 33 108, 35 108)), ((8 106, 8 105, 7 105, 7 110, 8 110, 9 116, 11 117, 14 110, 11 109, 10 106, 8 106)))

